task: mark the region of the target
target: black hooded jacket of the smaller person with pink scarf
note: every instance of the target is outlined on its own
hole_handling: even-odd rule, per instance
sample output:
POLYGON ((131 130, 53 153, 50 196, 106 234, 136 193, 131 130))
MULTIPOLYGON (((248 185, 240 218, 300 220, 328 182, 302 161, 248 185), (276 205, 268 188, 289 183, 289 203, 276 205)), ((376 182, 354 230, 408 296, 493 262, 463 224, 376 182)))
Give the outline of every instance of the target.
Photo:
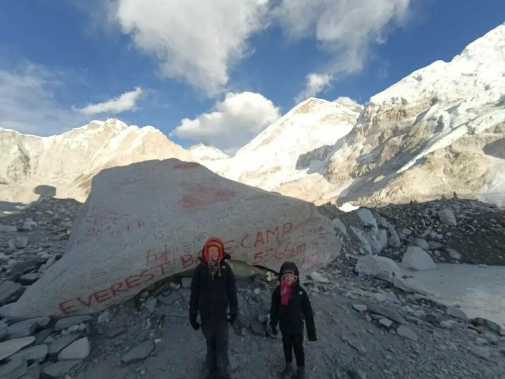
MULTIPOLYGON (((280 269, 280 277, 285 270, 293 270, 299 277, 299 271, 293 262, 284 262, 280 269)), ((316 338, 316 325, 311 302, 305 290, 301 287, 299 278, 293 285, 291 298, 287 305, 281 305, 281 286, 277 286, 272 294, 270 307, 270 325, 276 327, 279 323, 282 333, 304 333, 304 320, 307 324, 307 336, 316 338)))

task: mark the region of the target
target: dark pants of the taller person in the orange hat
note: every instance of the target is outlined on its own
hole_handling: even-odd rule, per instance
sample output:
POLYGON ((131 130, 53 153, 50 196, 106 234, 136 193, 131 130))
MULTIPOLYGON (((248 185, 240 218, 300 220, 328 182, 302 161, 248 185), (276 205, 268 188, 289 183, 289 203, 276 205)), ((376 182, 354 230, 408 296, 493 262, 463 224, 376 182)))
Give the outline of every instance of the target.
POLYGON ((216 379, 229 379, 228 320, 201 320, 201 331, 207 343, 207 370, 216 379))

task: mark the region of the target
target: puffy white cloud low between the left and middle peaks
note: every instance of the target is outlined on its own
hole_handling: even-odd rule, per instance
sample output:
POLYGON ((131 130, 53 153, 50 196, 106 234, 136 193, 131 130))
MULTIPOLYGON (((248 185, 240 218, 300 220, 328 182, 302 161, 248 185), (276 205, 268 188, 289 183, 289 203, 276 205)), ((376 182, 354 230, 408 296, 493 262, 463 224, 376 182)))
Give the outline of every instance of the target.
POLYGON ((185 118, 170 136, 190 138, 234 153, 280 117, 279 108, 259 93, 228 93, 215 110, 185 118))

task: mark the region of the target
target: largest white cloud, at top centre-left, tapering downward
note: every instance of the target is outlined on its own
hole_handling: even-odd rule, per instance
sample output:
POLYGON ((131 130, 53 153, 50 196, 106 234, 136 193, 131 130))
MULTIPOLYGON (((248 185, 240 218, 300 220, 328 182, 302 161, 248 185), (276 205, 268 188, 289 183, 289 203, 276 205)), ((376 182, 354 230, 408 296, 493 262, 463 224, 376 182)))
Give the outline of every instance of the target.
POLYGON ((214 96, 247 39, 266 26, 267 10, 268 0, 117 0, 111 12, 137 48, 156 55, 163 75, 214 96))

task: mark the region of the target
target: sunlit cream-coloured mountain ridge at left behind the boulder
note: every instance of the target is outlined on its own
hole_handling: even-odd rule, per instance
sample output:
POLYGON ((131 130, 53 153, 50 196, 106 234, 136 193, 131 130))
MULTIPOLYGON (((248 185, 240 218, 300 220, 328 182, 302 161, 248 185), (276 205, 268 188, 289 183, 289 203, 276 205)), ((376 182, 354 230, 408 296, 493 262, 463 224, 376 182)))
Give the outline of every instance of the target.
POLYGON ((57 188, 57 197, 84 201, 100 170, 191 153, 152 126, 139 128, 109 119, 92 121, 66 133, 37 137, 0 128, 0 200, 30 202, 40 184, 57 188))

